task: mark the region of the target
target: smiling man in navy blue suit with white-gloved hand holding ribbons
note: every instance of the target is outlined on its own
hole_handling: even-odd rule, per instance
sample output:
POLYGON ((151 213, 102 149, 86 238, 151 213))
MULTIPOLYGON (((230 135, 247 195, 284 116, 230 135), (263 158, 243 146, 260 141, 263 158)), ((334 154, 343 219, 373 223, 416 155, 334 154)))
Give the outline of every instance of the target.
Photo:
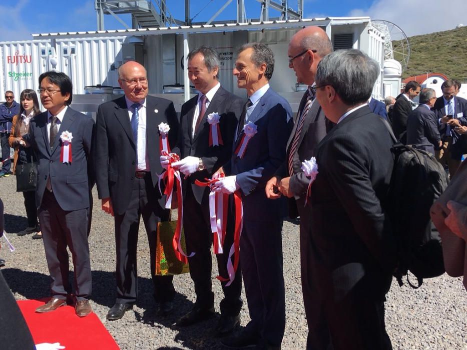
MULTIPOLYGON (((282 200, 269 200, 264 188, 285 160, 292 128, 288 102, 269 87, 274 53, 262 43, 245 44, 238 50, 233 70, 248 101, 240 118, 234 149, 241 146, 246 129, 256 128, 245 151, 233 154, 223 170, 226 177, 214 184, 217 191, 239 191, 243 203, 240 263, 251 321, 228 347, 257 345, 278 349, 285 328, 285 292, 282 274, 282 200), (241 125, 245 125, 243 128, 241 125)), ((233 214, 233 213, 232 213, 233 214)))

